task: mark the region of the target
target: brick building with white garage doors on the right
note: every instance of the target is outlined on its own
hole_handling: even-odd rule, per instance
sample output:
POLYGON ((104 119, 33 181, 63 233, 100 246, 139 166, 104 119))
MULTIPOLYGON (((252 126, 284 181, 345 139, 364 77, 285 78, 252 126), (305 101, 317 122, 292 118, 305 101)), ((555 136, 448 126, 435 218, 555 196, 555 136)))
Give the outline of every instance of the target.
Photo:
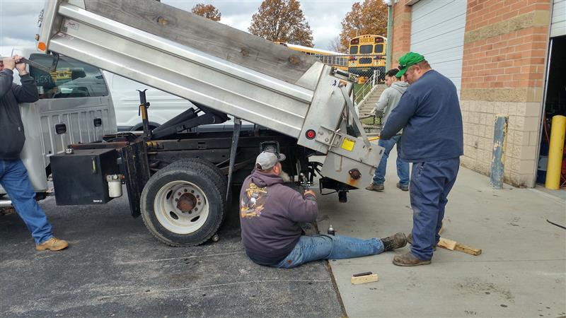
POLYGON ((504 180, 534 186, 548 153, 541 123, 566 113, 566 0, 396 0, 389 44, 392 65, 419 52, 454 81, 461 165, 489 175, 495 115, 507 114, 504 180))

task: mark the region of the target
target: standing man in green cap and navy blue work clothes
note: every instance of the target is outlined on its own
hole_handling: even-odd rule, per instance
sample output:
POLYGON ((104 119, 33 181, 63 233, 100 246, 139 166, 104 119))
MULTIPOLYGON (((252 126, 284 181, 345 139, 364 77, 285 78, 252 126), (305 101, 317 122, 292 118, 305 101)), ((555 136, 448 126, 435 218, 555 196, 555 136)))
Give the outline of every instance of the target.
POLYGON ((430 264, 444 218, 447 196, 454 186, 463 155, 462 114, 454 83, 431 69, 421 54, 399 59, 397 77, 405 75, 409 88, 391 112, 381 139, 403 129, 400 158, 412 163, 410 201, 412 245, 396 255, 393 264, 430 264))

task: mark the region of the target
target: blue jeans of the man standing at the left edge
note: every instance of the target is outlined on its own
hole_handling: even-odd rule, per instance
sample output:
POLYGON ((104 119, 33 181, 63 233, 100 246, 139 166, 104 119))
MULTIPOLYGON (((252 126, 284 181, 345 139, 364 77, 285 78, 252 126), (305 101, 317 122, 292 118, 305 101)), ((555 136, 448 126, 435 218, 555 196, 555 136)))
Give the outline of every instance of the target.
POLYGON ((0 159, 0 185, 12 200, 16 212, 28 226, 35 244, 41 244, 53 237, 47 216, 35 201, 35 191, 28 177, 28 170, 22 160, 0 159))

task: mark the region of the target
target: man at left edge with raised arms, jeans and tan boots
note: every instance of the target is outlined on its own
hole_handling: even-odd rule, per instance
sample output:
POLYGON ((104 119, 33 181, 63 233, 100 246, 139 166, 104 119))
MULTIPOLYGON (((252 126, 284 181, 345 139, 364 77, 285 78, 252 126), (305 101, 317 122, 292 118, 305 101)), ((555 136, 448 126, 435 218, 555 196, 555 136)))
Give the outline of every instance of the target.
POLYGON ((58 251, 69 244, 53 236, 45 212, 35 201, 28 170, 25 170, 20 159, 25 136, 18 103, 35 102, 39 98, 35 81, 25 71, 25 63, 19 63, 20 59, 16 55, 0 62, 0 185, 28 226, 35 240, 35 248, 38 251, 58 251), (17 69, 20 74, 21 86, 12 83, 13 69, 17 69))

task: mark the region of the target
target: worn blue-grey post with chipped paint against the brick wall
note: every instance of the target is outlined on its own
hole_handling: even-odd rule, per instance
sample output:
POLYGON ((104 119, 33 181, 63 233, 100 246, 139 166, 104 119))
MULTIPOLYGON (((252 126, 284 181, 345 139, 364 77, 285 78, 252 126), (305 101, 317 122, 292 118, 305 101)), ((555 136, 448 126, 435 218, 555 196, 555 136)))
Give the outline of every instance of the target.
POLYGON ((507 122, 509 122, 508 116, 497 115, 495 117, 495 131, 493 134, 493 157, 491 160, 490 175, 490 185, 494 189, 503 188, 505 148, 507 148, 507 122))

